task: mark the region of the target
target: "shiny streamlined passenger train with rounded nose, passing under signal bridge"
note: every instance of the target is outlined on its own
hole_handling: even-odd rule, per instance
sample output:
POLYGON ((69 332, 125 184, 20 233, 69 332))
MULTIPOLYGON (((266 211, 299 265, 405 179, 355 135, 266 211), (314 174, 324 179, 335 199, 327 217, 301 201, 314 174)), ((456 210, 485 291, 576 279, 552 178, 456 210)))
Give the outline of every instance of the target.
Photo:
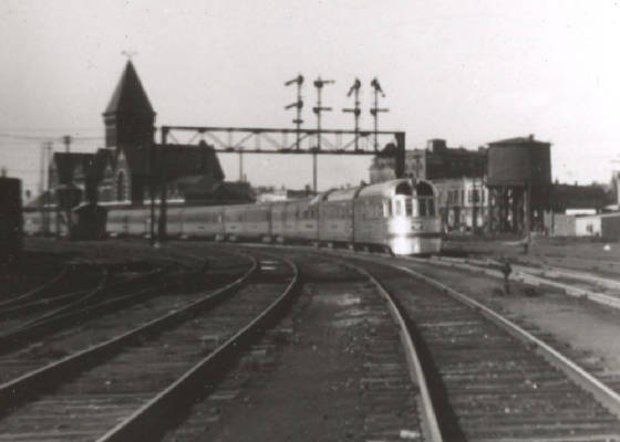
MULTIPOLYGON (((27 218, 38 214, 27 213, 27 218)), ((114 236, 146 236, 149 222, 146 206, 110 207, 106 229, 114 236)), ((31 224, 40 225, 34 220, 31 224)), ((28 222, 25 230, 29 231, 28 222)), ((216 241, 347 245, 384 249, 394 254, 437 253, 442 244, 433 186, 406 179, 330 190, 294 201, 172 206, 167 210, 167 234, 216 241)))

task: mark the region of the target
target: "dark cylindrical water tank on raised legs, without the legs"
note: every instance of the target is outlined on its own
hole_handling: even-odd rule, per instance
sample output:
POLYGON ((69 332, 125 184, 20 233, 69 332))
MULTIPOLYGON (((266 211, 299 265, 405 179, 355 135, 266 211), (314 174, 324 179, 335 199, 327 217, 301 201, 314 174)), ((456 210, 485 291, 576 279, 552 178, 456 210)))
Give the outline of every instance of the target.
POLYGON ((551 183, 550 143, 533 136, 488 144, 488 186, 549 186, 551 183))

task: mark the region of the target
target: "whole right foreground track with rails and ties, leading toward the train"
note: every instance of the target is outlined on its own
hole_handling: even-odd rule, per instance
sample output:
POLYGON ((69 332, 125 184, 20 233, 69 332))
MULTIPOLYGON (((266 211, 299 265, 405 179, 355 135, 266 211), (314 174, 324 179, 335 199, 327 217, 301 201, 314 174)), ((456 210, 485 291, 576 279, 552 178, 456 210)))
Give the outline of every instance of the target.
POLYGON ((620 394, 546 341, 406 260, 338 255, 363 267, 406 322, 417 385, 427 385, 425 422, 432 429, 434 414, 440 432, 427 440, 620 440, 620 394))

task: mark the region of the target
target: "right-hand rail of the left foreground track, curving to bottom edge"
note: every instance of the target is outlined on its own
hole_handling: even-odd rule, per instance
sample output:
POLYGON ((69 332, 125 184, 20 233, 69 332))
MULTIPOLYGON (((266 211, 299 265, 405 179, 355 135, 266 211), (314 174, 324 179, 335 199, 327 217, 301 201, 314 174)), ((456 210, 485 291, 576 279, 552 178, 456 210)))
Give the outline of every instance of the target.
POLYGON ((161 431, 165 425, 164 421, 168 411, 183 407, 189 400, 193 400, 193 391, 205 381, 209 375, 221 370, 221 367, 236 357, 235 352, 246 347, 256 335, 269 327, 269 323, 277 320, 279 315, 286 309, 292 301, 293 288, 299 282, 299 270, 297 265, 285 259, 285 262, 292 269, 293 275, 285 291, 276 298, 266 309, 264 309, 249 324, 237 332, 226 343, 210 352, 207 357, 187 370, 176 381, 161 391, 155 398, 142 406, 127 419, 118 423, 96 442, 131 442, 137 441, 145 436, 145 433, 155 433, 161 431))

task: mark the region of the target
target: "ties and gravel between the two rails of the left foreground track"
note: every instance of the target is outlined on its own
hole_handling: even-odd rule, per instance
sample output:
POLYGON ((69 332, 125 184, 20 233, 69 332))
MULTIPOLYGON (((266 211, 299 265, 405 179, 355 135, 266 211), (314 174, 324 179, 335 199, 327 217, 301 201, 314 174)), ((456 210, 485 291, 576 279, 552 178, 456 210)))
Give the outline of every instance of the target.
POLYGON ((286 282, 273 281, 276 274, 286 280, 290 270, 280 264, 269 273, 267 282, 252 280, 224 304, 143 337, 11 410, 0 421, 0 441, 96 440, 267 307, 286 287, 286 282))

